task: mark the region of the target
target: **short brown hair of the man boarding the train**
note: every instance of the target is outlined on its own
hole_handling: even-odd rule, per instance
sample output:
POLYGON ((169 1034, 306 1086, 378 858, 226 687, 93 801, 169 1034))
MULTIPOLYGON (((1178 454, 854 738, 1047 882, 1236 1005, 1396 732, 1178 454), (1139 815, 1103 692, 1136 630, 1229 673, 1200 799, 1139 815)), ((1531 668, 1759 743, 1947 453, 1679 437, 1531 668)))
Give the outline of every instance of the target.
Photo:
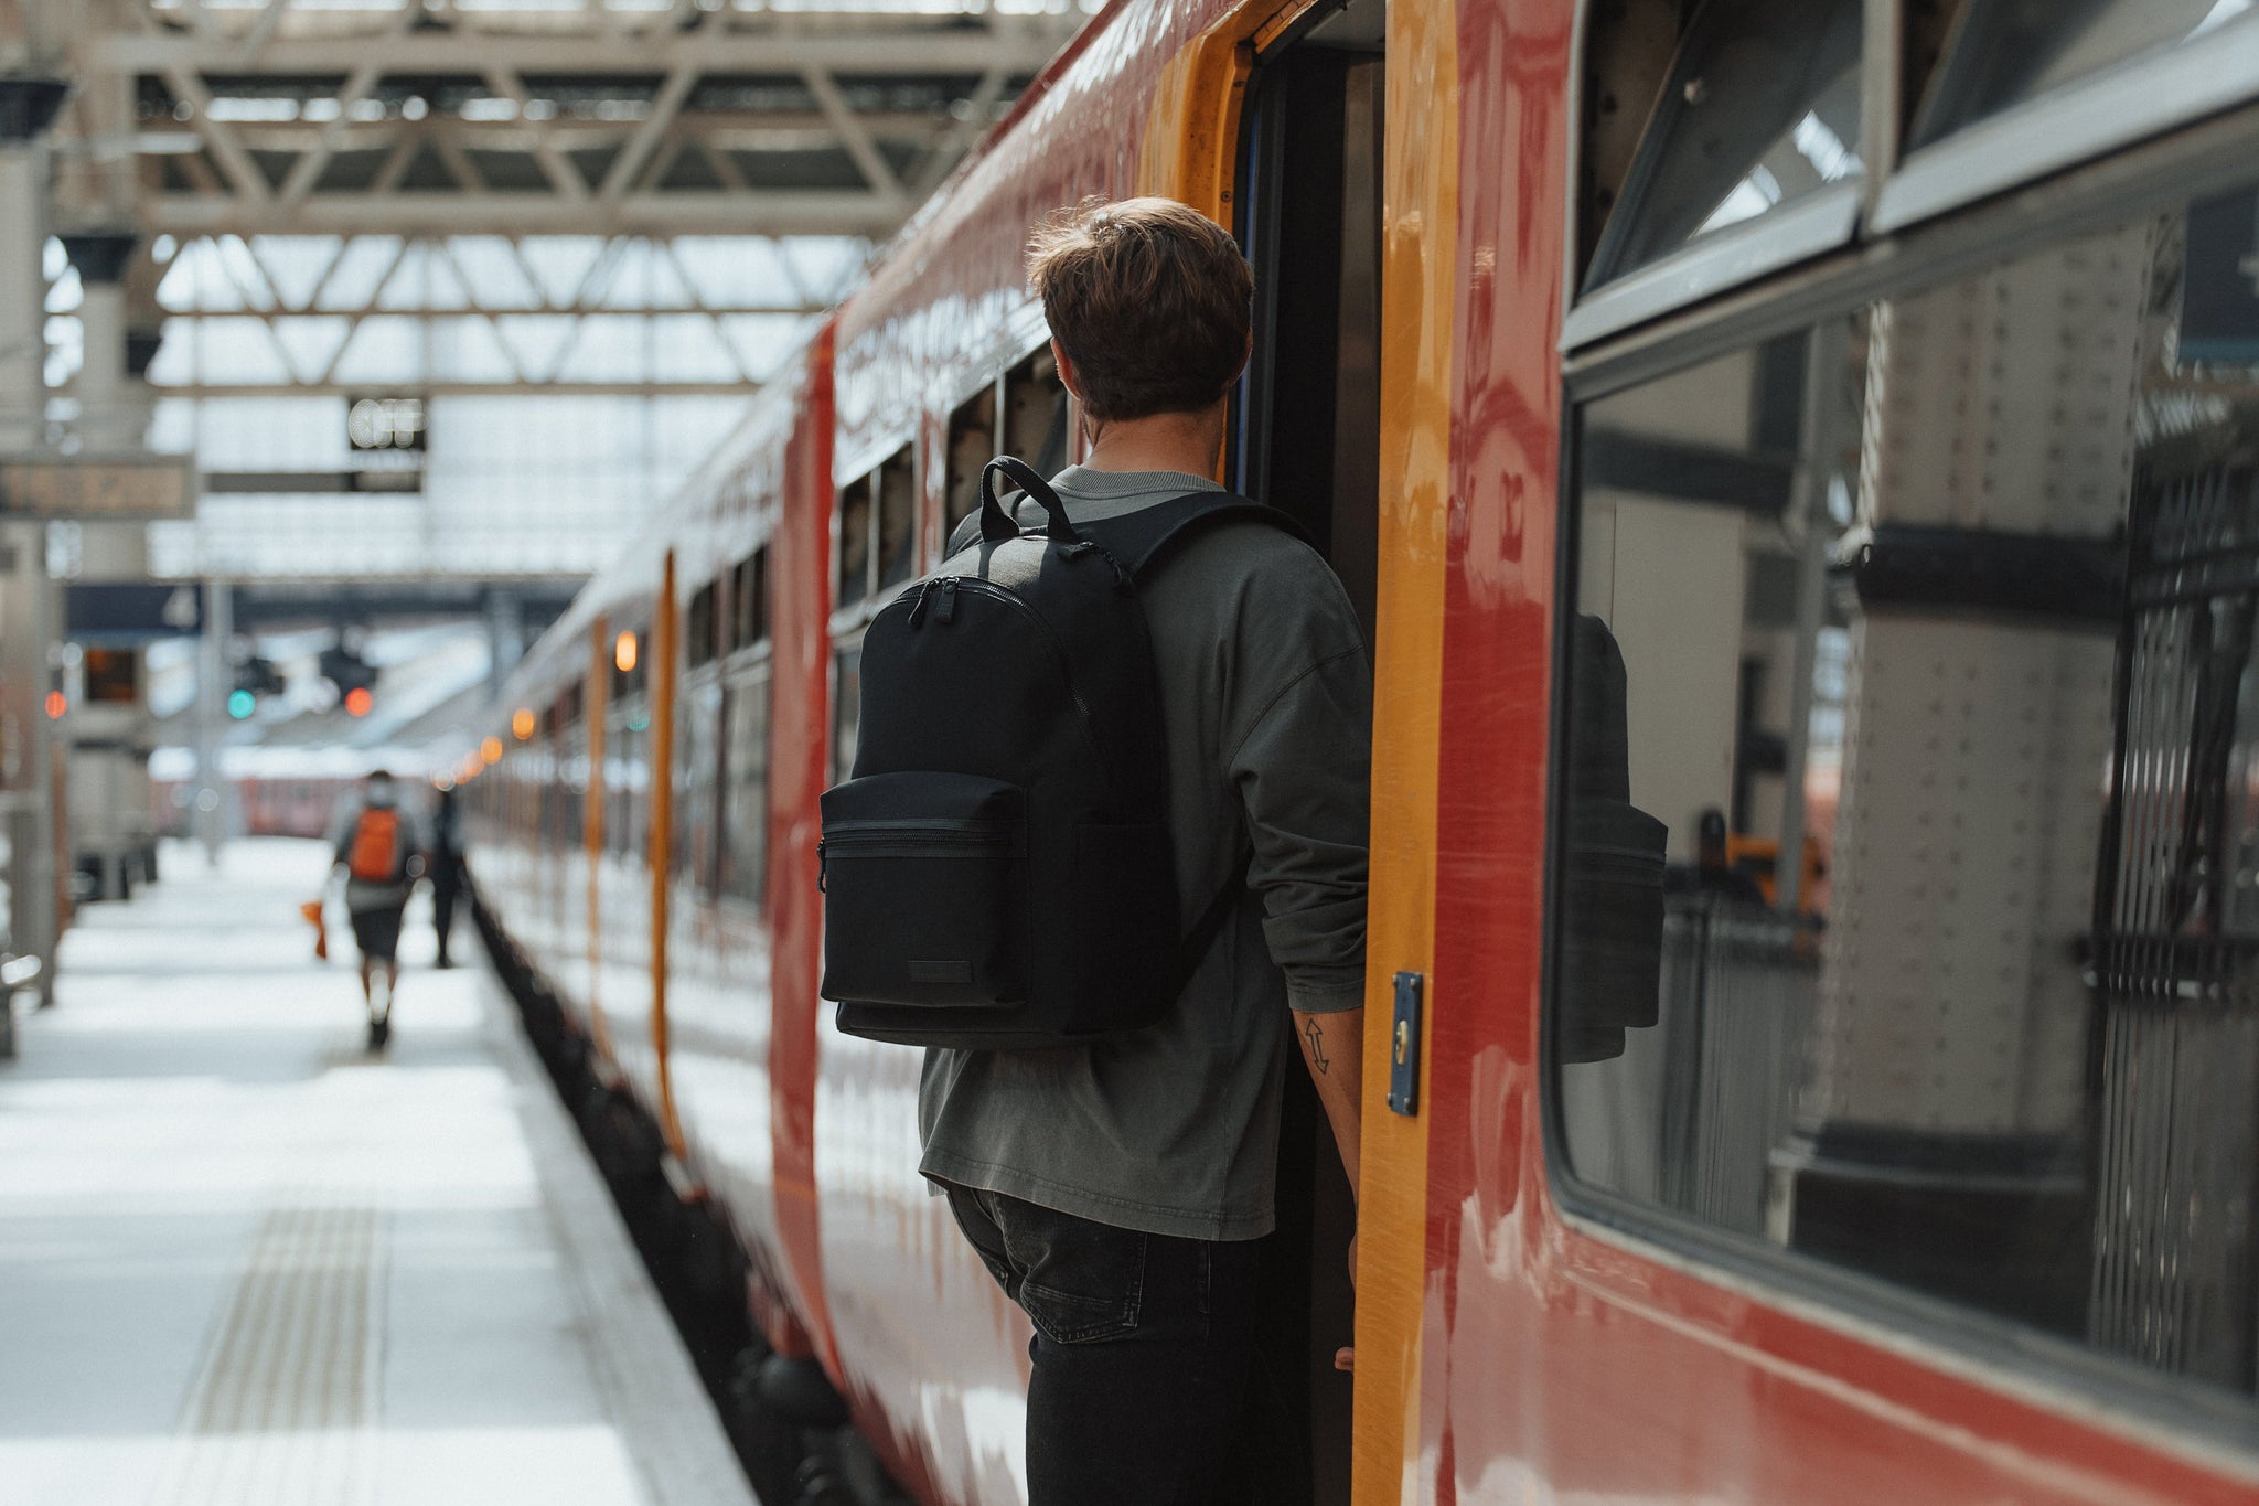
POLYGON ((1175 199, 1084 199, 1028 233, 1028 282, 1100 422, 1195 413, 1247 364, 1256 278, 1175 199))

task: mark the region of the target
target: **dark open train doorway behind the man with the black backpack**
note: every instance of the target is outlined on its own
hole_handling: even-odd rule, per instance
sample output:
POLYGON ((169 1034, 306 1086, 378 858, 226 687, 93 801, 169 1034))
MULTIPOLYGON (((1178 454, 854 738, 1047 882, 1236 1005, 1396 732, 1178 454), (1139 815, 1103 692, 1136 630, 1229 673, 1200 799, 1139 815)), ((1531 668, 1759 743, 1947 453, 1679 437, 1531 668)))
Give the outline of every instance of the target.
MULTIPOLYGON (((1383 0, 1324 7, 1251 81, 1240 246, 1256 269, 1256 348, 1233 411, 1233 483, 1290 513, 1373 637, 1380 508, 1383 0)), ((1349 1179, 1317 1093, 1288 1072, 1279 1233, 1270 1251, 1263 1465, 1276 1499, 1346 1506, 1349 1179)), ((1270 1488, 1245 1499, 1270 1501, 1270 1488)))

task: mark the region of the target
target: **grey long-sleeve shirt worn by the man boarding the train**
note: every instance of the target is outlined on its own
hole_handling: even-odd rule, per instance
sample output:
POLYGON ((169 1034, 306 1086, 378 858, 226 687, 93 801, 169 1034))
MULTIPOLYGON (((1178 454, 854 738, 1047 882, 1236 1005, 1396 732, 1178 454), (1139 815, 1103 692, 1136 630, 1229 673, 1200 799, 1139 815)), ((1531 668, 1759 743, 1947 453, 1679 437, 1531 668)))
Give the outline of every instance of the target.
MULTIPOLYGON (((1053 485, 1087 519, 1215 490, 1082 467, 1053 485)), ((1242 831, 1247 894, 1177 1009, 1130 1041, 928 1050, 919 1170, 1118 1228, 1254 1240, 1274 1217, 1288 1007, 1364 1002, 1371 664, 1326 562, 1263 524, 1195 535, 1141 596, 1186 923, 1242 831)))

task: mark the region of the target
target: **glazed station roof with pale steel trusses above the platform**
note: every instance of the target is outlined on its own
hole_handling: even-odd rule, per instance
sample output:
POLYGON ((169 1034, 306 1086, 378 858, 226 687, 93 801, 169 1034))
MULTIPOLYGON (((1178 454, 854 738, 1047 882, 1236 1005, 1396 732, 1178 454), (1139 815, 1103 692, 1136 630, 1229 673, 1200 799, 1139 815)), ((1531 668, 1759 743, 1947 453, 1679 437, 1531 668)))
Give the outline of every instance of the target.
POLYGON ((0 0, 0 70, 75 86, 50 228, 138 237, 151 445, 242 485, 151 573, 596 569, 1096 5, 0 0), (425 404, 422 485, 289 494, 368 395, 425 404))

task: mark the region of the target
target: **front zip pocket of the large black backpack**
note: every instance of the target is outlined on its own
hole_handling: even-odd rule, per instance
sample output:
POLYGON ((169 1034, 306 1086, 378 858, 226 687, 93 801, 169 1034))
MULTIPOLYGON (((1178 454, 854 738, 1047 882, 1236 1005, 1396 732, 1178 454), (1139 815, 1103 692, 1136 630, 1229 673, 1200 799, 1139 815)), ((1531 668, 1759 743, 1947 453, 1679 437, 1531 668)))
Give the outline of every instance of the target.
POLYGON ((829 1000, 992 1007, 1026 998, 1026 795, 974 774, 825 790, 829 1000))

